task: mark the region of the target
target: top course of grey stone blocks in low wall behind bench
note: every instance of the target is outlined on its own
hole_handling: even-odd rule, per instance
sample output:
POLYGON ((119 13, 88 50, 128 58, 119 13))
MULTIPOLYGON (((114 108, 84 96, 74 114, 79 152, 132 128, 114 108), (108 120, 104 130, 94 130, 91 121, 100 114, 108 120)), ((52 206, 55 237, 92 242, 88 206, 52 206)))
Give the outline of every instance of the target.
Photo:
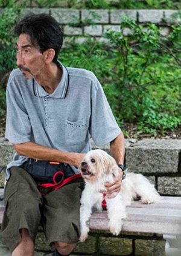
MULTIPOLYGON (((181 140, 125 141, 125 162, 131 172, 177 173, 181 170, 181 140)), ((97 148, 93 141, 91 144, 97 148)), ((101 149, 109 152, 109 145, 101 149)), ((0 166, 6 166, 13 153, 13 145, 0 138, 0 166)))

